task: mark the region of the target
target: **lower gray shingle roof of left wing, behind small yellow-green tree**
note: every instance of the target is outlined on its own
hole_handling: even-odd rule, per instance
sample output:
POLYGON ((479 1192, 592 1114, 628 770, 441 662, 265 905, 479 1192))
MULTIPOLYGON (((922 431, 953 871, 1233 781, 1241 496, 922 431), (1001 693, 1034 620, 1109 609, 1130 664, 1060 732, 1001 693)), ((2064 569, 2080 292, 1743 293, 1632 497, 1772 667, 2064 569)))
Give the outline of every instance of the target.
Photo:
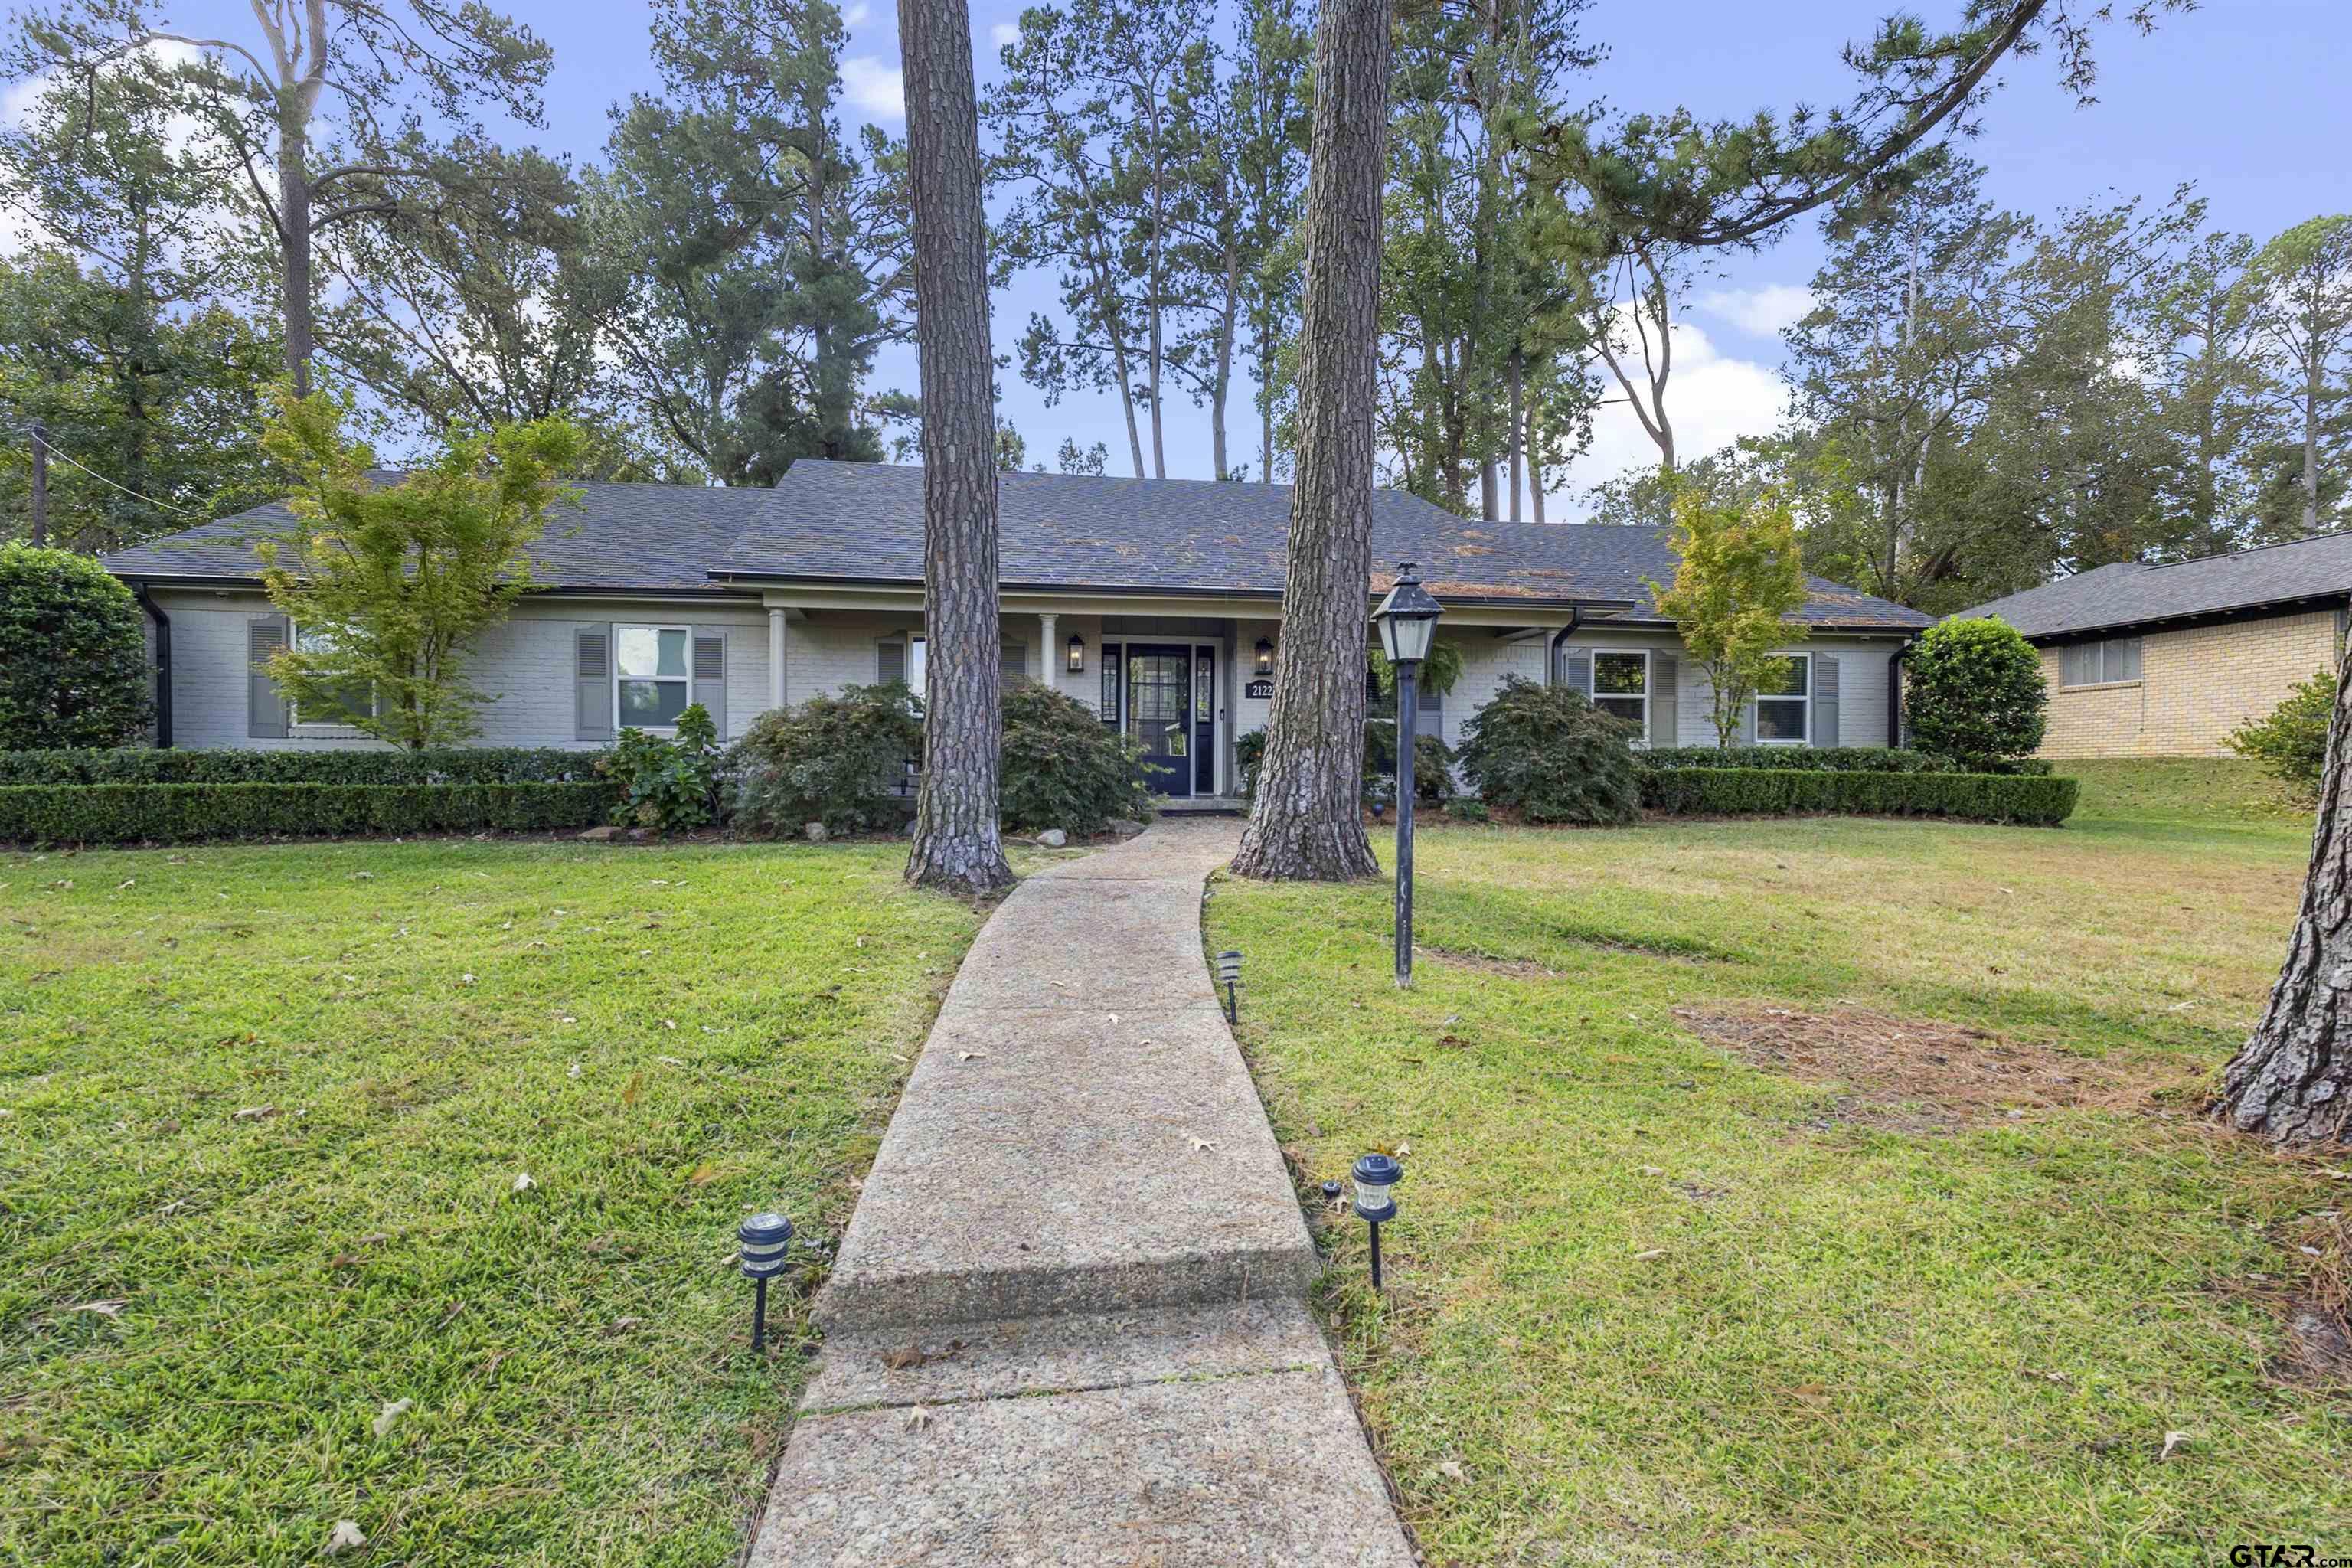
MULTIPOLYGON (((762 489, 696 484, 581 484, 581 508, 557 508, 532 550, 532 576, 548 588, 637 588, 713 592, 710 564, 767 503, 762 489)), ((252 541, 285 534, 294 512, 270 503, 151 538, 103 557, 129 578, 259 578, 252 541)))

